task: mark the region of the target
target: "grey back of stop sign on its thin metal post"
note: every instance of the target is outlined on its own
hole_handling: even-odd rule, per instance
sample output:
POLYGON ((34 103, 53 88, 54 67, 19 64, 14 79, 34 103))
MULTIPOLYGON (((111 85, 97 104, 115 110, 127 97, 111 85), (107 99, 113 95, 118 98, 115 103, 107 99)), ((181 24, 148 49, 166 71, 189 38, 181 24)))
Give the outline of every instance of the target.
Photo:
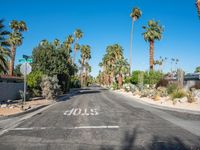
POLYGON ((20 72, 24 75, 24 100, 22 102, 22 108, 26 102, 26 76, 31 73, 32 67, 28 62, 25 62, 20 67, 20 72))

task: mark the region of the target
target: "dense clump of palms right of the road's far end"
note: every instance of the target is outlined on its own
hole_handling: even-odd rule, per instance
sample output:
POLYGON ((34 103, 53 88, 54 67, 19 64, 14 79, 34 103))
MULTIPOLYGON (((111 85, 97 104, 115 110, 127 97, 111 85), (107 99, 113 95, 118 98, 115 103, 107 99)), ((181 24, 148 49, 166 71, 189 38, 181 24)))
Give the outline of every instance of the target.
POLYGON ((123 48, 118 44, 107 46, 106 54, 99 66, 102 71, 99 73, 98 82, 109 86, 116 82, 119 88, 130 70, 130 66, 123 56, 123 48))

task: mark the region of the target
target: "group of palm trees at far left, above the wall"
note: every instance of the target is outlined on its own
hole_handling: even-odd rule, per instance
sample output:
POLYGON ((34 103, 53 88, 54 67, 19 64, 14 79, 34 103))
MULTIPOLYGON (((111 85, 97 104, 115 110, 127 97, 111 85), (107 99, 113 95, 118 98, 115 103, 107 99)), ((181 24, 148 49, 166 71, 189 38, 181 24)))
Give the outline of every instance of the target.
POLYGON ((16 49, 23 43, 22 33, 27 31, 27 26, 24 21, 13 20, 10 29, 10 32, 6 31, 0 20, 0 73, 13 76, 16 49))

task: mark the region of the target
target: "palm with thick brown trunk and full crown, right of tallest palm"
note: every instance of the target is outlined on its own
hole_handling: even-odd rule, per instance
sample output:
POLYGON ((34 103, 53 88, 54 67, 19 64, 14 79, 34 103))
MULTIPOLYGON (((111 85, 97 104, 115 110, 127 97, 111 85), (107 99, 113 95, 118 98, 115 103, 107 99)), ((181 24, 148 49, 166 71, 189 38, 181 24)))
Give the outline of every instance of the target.
POLYGON ((161 40, 163 27, 158 24, 157 21, 150 20, 148 26, 144 26, 143 29, 146 31, 143 33, 144 40, 150 43, 150 70, 154 69, 154 42, 155 40, 161 40))

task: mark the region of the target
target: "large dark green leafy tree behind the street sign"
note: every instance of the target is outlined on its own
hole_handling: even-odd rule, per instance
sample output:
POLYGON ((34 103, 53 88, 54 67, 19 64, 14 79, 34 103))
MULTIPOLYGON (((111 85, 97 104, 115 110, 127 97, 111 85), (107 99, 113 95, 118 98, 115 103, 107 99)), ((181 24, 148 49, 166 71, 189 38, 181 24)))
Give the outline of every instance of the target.
POLYGON ((33 71, 41 71, 48 76, 56 75, 62 91, 66 92, 69 90, 70 77, 77 72, 76 65, 67 61, 70 59, 70 54, 65 42, 59 46, 51 42, 45 43, 45 45, 39 44, 33 50, 33 71))

